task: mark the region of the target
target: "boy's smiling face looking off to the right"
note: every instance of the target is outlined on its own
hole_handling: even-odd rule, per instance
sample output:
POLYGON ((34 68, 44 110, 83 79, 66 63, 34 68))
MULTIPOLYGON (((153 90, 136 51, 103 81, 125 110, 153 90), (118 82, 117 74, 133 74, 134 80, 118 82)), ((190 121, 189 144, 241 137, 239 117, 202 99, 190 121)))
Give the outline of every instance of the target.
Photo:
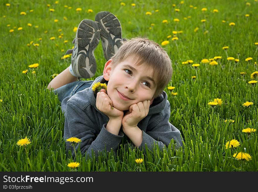
POLYGON ((136 65, 133 57, 128 57, 112 67, 108 60, 103 70, 103 77, 108 81, 107 94, 113 107, 120 111, 129 110, 132 104, 154 99, 157 89, 154 70, 146 65, 136 65))

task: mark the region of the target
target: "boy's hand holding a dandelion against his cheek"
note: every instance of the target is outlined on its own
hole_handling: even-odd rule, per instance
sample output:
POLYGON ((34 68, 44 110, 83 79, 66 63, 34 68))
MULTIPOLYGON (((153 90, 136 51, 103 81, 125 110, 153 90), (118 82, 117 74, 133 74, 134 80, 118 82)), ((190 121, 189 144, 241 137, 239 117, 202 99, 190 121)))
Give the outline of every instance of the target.
POLYGON ((109 96, 106 94, 105 89, 101 89, 100 92, 97 93, 96 107, 99 109, 99 111, 106 114, 109 119, 122 119, 124 116, 123 111, 113 107, 113 103, 109 96))

